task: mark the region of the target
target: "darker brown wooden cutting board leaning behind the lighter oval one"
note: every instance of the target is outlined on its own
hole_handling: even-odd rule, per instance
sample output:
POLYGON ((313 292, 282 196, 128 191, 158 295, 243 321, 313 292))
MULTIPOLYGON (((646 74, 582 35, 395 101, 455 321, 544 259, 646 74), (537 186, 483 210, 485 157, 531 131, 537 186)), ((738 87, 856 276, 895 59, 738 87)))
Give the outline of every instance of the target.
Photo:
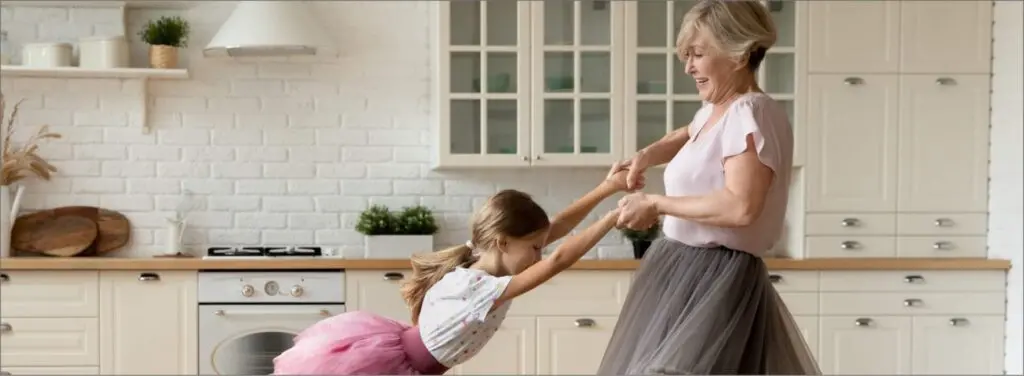
MULTIPOLYGON (((14 221, 13 228, 11 228, 11 248, 22 251, 23 248, 18 248, 17 246, 20 244, 18 243, 19 235, 26 236, 35 232, 35 228, 38 228, 42 223, 65 216, 83 217, 95 223, 97 231, 95 240, 90 247, 79 254, 80 256, 114 251, 127 245, 130 240, 131 223, 124 214, 93 206, 65 206, 18 217, 14 221)), ((24 250, 30 251, 28 249, 24 250)))

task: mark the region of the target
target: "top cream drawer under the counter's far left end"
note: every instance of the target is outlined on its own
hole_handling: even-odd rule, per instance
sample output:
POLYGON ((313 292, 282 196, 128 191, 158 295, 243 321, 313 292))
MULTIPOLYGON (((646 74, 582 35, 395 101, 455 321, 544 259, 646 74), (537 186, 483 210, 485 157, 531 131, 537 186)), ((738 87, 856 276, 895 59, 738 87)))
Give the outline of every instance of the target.
POLYGON ((98 271, 2 271, 0 316, 6 318, 95 318, 98 271))

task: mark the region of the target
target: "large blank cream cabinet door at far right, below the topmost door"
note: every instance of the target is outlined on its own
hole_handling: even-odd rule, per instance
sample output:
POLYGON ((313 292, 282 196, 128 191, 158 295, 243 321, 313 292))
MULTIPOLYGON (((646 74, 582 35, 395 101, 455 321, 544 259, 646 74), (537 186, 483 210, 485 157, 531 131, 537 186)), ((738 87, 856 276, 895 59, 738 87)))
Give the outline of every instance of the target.
POLYGON ((988 75, 900 77, 899 211, 988 210, 990 81, 988 75))

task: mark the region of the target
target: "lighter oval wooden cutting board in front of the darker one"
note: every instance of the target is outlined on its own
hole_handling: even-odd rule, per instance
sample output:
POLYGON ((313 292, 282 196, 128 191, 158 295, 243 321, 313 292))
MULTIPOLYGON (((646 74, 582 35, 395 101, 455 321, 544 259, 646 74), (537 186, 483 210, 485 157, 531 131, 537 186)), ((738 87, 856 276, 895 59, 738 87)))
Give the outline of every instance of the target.
POLYGON ((96 222, 76 215, 49 217, 33 224, 11 232, 12 248, 19 252, 71 257, 91 247, 98 234, 96 222))

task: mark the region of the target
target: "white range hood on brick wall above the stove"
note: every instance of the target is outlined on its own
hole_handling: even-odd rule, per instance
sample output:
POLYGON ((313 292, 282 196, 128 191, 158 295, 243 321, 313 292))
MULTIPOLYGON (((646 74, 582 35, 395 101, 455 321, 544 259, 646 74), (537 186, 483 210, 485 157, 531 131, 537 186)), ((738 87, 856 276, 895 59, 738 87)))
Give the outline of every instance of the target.
POLYGON ((206 56, 313 55, 333 47, 305 1, 239 1, 203 49, 206 56))

